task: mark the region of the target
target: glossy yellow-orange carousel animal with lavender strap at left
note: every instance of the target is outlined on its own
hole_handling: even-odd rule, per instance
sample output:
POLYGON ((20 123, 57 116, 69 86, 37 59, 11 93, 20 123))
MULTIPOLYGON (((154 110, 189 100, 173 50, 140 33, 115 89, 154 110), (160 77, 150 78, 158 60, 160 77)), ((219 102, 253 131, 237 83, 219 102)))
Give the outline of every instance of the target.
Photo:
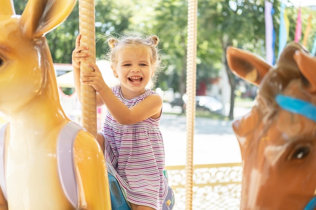
POLYGON ((45 34, 76 0, 0 4, 0 209, 111 209, 96 139, 64 113, 45 34))

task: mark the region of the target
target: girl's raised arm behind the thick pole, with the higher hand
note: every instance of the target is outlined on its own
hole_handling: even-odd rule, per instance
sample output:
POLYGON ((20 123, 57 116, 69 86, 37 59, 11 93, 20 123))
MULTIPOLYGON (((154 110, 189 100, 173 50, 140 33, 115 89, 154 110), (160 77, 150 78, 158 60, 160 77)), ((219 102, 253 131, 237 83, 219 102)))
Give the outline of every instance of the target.
MULTIPOLYGON (((73 66, 73 74, 74 74, 74 84, 77 97, 81 102, 81 83, 80 83, 80 62, 86 60, 90 54, 86 52, 88 47, 80 46, 80 38, 81 34, 79 34, 76 38, 76 48, 72 52, 72 66, 73 66)), ((98 93, 96 93, 96 106, 102 106, 103 101, 98 93)))

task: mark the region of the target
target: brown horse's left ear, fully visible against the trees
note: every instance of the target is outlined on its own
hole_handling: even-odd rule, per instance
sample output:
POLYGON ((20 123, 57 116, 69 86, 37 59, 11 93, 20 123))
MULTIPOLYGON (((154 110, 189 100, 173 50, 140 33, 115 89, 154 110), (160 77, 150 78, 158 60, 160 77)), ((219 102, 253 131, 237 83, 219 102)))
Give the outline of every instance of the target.
POLYGON ((226 57, 231 71, 237 77, 256 86, 259 86, 272 67, 258 55, 235 47, 227 48, 226 57))

